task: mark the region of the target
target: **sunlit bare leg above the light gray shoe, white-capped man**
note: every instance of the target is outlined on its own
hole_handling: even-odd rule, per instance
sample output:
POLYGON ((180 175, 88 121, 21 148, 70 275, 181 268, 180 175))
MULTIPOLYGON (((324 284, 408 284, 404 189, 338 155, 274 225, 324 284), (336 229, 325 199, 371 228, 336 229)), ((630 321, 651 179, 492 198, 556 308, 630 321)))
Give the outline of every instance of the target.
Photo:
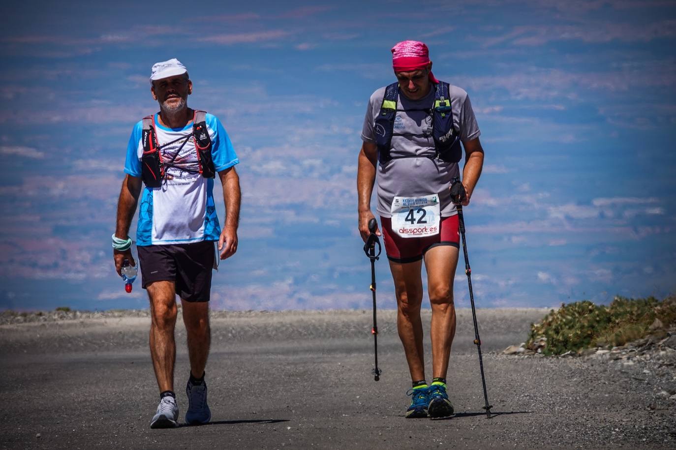
POLYGON ((176 361, 176 287, 173 281, 155 281, 147 286, 150 297, 150 356, 160 392, 174 391, 176 361))

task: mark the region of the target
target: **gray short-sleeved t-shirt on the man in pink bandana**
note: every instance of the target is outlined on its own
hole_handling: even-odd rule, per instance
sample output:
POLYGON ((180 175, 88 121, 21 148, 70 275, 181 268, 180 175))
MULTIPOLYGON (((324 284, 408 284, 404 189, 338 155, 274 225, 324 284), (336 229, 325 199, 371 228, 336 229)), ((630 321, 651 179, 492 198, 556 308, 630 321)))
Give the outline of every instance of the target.
MULTIPOLYGON (((381 87, 371 95, 366 108, 362 141, 376 143, 375 118, 383 105, 385 88, 381 87)), ((460 130, 460 139, 464 143, 479 137, 481 132, 472 110, 467 93, 458 86, 450 86, 453 124, 460 130)), ((429 109, 434 103, 434 89, 420 100, 409 100, 402 93, 397 100, 397 109, 429 109)), ((391 159, 385 165, 378 164, 377 186, 380 216, 391 217, 391 204, 394 197, 422 197, 439 194, 441 217, 457 214, 451 201, 449 188, 451 180, 460 176, 457 163, 448 163, 441 159, 429 159, 427 155, 435 153, 432 138, 432 115, 427 111, 397 111, 394 120, 394 132, 402 134, 427 134, 427 136, 392 136, 391 156, 421 155, 416 158, 391 159)))

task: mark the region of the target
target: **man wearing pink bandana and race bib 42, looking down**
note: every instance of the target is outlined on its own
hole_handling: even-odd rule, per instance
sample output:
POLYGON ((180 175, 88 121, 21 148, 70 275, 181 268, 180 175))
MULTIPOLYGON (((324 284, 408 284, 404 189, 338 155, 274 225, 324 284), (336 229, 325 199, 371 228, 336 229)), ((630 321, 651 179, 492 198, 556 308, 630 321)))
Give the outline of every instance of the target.
POLYGON ((464 148, 462 184, 468 205, 483 167, 479 126, 469 97, 437 80, 427 45, 392 48, 397 82, 370 97, 362 129, 357 189, 359 231, 368 239, 370 198, 377 180, 377 213, 397 297, 397 329, 413 383, 407 418, 452 416, 446 374, 456 330, 453 279, 458 264, 458 212, 450 196, 464 148), (462 147, 460 144, 462 143, 462 147), (431 384, 425 378, 421 269, 432 307, 431 384))

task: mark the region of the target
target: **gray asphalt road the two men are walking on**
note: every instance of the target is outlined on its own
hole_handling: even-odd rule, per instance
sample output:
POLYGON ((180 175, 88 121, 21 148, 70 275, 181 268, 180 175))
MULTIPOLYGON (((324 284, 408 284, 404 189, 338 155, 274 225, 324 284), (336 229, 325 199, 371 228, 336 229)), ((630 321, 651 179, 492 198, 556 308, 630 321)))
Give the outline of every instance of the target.
MULTIPOLYGON (((394 311, 379 312, 379 382, 370 374, 370 311, 220 313, 206 378, 213 422, 170 430, 149 428, 158 389, 148 318, 1 325, 0 448, 676 447, 676 402, 649 409, 654 382, 592 359, 501 355, 546 311, 478 314, 491 419, 468 310, 458 311, 448 420, 404 418, 410 377, 394 311)), ((176 336, 183 421, 183 326, 176 336)))

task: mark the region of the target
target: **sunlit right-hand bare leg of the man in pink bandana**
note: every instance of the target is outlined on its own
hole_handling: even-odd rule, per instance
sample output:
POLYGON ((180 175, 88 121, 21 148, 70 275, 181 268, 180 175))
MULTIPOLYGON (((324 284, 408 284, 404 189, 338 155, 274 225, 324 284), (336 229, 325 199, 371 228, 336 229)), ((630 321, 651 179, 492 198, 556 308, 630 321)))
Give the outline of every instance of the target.
POLYGON ((432 373, 446 378, 451 345, 456 334, 453 278, 458 266, 458 249, 450 245, 433 247, 425 253, 427 289, 432 306, 432 373))

